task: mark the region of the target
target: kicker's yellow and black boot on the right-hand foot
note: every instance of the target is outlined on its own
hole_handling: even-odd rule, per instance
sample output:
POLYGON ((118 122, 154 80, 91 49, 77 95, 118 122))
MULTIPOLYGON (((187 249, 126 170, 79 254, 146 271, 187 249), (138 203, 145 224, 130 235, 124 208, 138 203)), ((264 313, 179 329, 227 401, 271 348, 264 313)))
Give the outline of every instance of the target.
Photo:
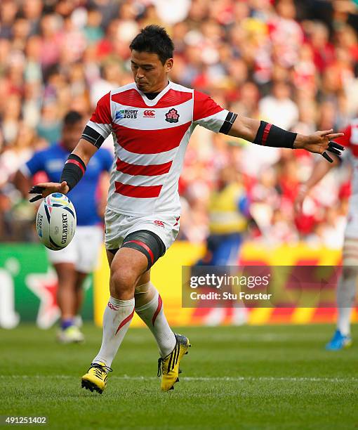
MULTIPOLYGON (((175 334, 175 333, 174 333, 175 334)), ((158 360, 158 376, 161 376, 161 391, 169 391, 174 389, 175 382, 179 382, 180 360, 187 354, 188 348, 191 346, 189 339, 181 334, 175 334, 176 345, 171 353, 158 360)))

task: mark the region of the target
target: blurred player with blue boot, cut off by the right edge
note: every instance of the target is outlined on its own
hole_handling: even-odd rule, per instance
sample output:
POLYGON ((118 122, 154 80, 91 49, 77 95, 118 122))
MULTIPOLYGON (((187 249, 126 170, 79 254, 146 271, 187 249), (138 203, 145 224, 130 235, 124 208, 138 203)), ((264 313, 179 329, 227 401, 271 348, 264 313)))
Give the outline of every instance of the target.
MULTIPOLYGON (((333 334, 331 341, 326 344, 326 349, 329 351, 347 348, 352 344, 350 318, 358 281, 358 118, 353 119, 347 129, 344 130, 344 136, 336 138, 335 141, 347 148, 344 158, 349 158, 350 162, 352 162, 353 176, 352 195, 350 197, 343 245, 343 269, 337 285, 337 330, 333 334)), ((333 167, 341 163, 339 157, 333 155, 333 158, 334 161, 331 164, 321 162, 321 160, 317 162, 310 178, 300 187, 296 200, 296 209, 302 209, 303 201, 314 185, 319 183, 333 167)))

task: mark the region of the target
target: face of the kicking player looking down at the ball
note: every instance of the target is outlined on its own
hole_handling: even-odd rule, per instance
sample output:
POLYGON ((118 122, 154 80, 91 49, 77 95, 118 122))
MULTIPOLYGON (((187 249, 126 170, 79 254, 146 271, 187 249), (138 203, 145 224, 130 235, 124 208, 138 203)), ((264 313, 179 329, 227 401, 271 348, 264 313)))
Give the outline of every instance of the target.
POLYGON ((143 93, 158 93, 168 84, 168 72, 173 67, 173 58, 161 63, 156 53, 132 51, 131 68, 138 90, 143 93))

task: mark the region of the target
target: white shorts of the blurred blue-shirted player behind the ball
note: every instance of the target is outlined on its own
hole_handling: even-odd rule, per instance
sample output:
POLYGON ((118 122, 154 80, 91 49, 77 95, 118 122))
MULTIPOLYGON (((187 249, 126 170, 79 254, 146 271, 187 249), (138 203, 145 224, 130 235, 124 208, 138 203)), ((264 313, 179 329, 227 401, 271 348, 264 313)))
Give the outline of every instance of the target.
POLYGON ((69 245, 59 251, 46 249, 51 263, 74 263, 78 272, 91 273, 98 264, 100 245, 103 242, 101 226, 77 226, 69 245))

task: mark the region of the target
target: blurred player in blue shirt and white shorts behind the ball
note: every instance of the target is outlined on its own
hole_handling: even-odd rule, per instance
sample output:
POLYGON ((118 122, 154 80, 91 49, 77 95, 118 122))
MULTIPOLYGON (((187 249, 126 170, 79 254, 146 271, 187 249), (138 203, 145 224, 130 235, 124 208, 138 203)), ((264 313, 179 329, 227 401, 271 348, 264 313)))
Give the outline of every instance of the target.
MULTIPOLYGON (((76 147, 83 128, 84 119, 78 112, 70 111, 65 115, 60 142, 35 152, 15 175, 15 185, 24 197, 28 195, 32 176, 37 172, 45 172, 49 181, 60 180, 63 164, 76 147)), ((88 163, 84 180, 69 193, 77 213, 77 229, 72 242, 60 251, 46 249, 58 275, 58 306, 61 312, 58 341, 63 343, 84 340, 78 327, 83 301, 82 285, 98 261, 103 240, 103 195, 107 197, 106 176, 112 162, 108 150, 96 152, 88 163)))

